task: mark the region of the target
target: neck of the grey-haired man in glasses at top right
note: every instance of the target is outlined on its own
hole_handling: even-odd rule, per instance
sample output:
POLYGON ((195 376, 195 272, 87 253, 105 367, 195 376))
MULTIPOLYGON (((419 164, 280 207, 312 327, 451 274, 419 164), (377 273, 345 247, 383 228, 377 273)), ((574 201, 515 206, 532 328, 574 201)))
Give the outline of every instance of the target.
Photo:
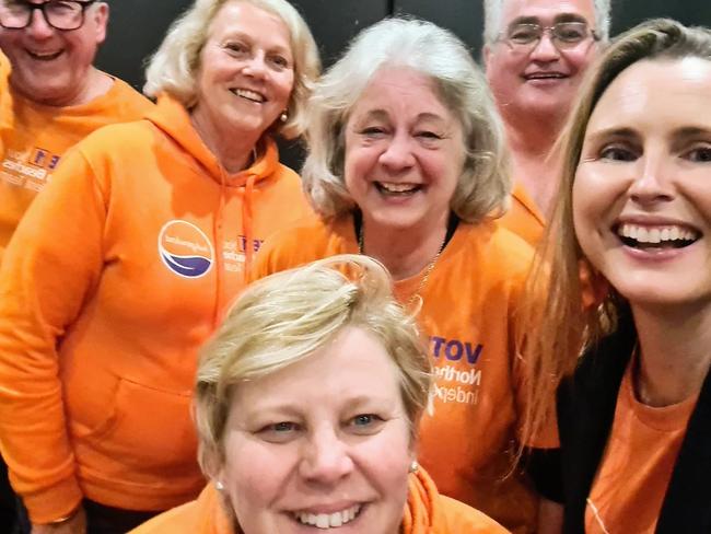
MULTIPOLYGON (((511 148, 514 182, 523 184, 541 213, 550 211, 558 190, 560 158, 553 150, 559 128, 527 129, 506 124, 506 139, 511 148)), ((549 125, 550 126, 550 125, 549 125)))

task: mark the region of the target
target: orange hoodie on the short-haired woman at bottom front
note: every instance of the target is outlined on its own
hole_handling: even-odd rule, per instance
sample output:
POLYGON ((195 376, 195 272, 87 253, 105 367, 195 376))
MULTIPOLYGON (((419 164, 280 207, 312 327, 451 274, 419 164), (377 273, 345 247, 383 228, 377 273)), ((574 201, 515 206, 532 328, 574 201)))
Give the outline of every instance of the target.
MULTIPOLYGON (((198 500, 163 513, 130 534, 242 534, 232 526, 220 495, 209 485, 198 500)), ((410 475, 401 534, 505 534, 503 526, 440 495, 422 468, 410 475)))

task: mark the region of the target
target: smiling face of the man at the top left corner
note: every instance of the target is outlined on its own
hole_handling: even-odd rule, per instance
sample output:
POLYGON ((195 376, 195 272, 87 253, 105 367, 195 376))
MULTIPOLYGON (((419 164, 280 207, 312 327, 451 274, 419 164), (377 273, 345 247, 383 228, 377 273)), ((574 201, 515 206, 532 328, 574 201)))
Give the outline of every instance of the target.
POLYGON ((12 88, 40 104, 81 103, 90 91, 90 72, 106 37, 107 20, 108 7, 98 3, 85 11, 84 24, 77 30, 55 30, 37 10, 25 28, 0 27, 0 47, 12 62, 12 88))

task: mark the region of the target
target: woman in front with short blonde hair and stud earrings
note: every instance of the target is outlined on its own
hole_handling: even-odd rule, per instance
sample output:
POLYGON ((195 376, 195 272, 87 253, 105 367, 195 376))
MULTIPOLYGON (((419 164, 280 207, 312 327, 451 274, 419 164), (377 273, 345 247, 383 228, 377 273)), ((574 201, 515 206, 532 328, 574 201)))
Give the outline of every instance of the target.
POLYGON ((391 289, 354 255, 247 288, 198 370, 211 483, 133 534, 505 533, 439 495, 415 461, 431 367, 391 289))

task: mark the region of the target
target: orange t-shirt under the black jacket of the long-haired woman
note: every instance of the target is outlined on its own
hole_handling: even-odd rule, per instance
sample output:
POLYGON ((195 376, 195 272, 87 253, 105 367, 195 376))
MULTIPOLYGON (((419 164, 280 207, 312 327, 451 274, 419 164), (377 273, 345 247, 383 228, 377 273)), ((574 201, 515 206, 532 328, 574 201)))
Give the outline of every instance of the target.
POLYGON ((585 509, 588 534, 653 534, 697 396, 663 408, 634 397, 622 379, 607 448, 585 509))

